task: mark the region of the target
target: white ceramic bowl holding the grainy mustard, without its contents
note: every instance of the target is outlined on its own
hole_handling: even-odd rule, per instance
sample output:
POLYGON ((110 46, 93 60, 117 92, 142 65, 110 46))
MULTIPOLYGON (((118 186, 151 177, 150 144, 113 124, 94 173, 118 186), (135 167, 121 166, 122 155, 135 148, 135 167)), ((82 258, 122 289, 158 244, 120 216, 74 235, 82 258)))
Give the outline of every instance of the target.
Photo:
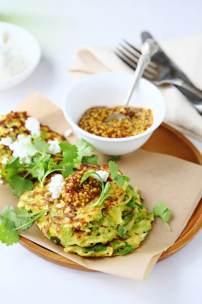
POLYGON ((132 75, 102 73, 88 76, 72 87, 66 97, 63 112, 79 138, 90 142, 105 155, 123 155, 141 147, 164 120, 166 103, 162 93, 150 82, 141 79, 134 91, 130 105, 153 110, 153 125, 141 134, 124 138, 104 138, 92 135, 78 126, 78 122, 92 106, 122 105, 132 82, 132 75))

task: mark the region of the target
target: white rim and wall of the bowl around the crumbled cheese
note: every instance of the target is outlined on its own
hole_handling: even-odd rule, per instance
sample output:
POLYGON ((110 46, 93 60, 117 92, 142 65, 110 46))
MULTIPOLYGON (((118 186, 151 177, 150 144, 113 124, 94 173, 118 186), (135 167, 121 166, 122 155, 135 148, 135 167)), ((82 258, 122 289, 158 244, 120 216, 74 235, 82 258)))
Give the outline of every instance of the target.
POLYGON ((14 75, 6 79, 0 79, 0 90, 5 90, 14 87, 23 81, 25 81, 36 68, 40 56, 41 50, 38 42, 28 31, 24 28, 7 23, 0 22, 0 34, 7 30, 12 40, 15 41, 16 45, 22 50, 23 56, 27 59, 29 66, 23 72, 14 75))

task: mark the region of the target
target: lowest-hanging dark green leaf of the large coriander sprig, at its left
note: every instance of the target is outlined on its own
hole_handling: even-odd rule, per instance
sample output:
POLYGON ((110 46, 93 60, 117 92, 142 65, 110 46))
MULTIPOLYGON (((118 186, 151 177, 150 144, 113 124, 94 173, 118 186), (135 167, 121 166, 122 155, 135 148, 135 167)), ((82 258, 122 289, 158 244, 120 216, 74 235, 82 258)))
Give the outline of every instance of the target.
POLYGON ((23 195, 25 191, 31 191, 34 187, 34 184, 30 179, 23 178, 19 175, 13 175, 9 184, 14 189, 13 195, 18 198, 23 195))

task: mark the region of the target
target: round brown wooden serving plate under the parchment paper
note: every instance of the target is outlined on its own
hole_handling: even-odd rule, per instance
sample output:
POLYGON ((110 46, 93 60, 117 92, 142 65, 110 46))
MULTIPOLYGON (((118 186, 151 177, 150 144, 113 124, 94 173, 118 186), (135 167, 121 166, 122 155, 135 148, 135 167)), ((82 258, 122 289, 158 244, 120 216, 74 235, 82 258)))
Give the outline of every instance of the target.
MULTIPOLYGON (((149 140, 142 147, 146 151, 158 152, 162 154, 172 155, 189 162, 202 165, 202 156, 194 145, 186 139, 180 132, 168 126, 165 123, 153 133, 149 140)), ((187 225, 182 231, 176 242, 162 253, 158 261, 161 261, 184 247, 201 229, 202 227, 202 199, 192 213, 187 225)), ((57 253, 49 251, 24 237, 21 237, 20 244, 34 254, 53 262, 55 264, 83 271, 93 270, 87 269, 57 253)))

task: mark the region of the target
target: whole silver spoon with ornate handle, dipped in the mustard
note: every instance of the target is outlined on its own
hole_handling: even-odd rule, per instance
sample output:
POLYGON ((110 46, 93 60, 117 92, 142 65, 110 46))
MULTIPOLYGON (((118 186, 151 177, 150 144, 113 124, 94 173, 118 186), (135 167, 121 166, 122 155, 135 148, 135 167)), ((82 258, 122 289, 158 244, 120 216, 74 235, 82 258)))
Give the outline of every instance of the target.
MULTIPOLYGON (((158 45, 156 44, 154 39, 149 38, 143 43, 142 48, 141 48, 142 55, 139 57, 139 60, 137 62, 137 67, 134 72, 132 86, 131 86, 131 88, 128 92, 127 98, 126 98, 126 105, 124 107, 122 107, 122 109, 128 107, 128 104, 129 104, 130 98, 132 96, 132 93, 134 92, 134 89, 136 88, 137 84, 139 83, 139 80, 142 77, 142 74, 143 74, 145 68, 149 64, 151 57, 157 52, 157 50, 158 50, 158 45)), ((122 120, 124 118, 130 118, 130 117, 124 115, 123 113, 116 112, 116 113, 110 115, 106 119, 105 122, 108 123, 115 119, 122 120)))

